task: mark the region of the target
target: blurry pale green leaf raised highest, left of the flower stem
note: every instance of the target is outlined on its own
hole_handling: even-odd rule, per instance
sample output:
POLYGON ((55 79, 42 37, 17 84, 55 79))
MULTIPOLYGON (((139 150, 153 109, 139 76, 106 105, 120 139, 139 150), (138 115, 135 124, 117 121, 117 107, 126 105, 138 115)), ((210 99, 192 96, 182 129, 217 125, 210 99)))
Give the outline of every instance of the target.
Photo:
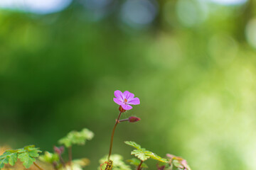
POLYGON ((67 136, 60 139, 58 142, 60 145, 70 147, 72 145, 85 145, 86 140, 92 140, 94 134, 88 129, 83 129, 81 132, 71 131, 67 136))

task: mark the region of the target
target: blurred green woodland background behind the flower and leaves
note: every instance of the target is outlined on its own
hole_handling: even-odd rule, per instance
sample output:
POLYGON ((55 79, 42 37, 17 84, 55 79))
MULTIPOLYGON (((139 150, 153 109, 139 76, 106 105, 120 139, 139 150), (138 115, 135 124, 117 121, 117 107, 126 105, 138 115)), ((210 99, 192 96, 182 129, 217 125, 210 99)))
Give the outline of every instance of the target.
POLYGON ((122 118, 142 120, 118 125, 114 154, 133 140, 196 170, 256 169, 255 48, 253 0, 1 0, 0 145, 52 152, 88 128, 74 157, 95 170, 119 89, 141 101, 122 118))

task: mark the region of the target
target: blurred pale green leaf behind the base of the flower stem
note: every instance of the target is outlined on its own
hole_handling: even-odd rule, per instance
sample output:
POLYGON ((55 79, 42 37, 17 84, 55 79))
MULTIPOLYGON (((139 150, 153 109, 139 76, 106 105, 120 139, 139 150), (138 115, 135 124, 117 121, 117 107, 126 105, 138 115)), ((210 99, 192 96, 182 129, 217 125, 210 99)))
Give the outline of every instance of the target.
MULTIPOLYGON (((132 170, 129 165, 125 164, 123 161, 123 157, 119 154, 112 154, 110 159, 113 162, 113 169, 112 170, 132 170)), ((102 164, 102 169, 105 169, 105 164, 107 162, 107 155, 100 159, 100 164, 102 164)), ((100 170, 100 167, 98 168, 100 170)))

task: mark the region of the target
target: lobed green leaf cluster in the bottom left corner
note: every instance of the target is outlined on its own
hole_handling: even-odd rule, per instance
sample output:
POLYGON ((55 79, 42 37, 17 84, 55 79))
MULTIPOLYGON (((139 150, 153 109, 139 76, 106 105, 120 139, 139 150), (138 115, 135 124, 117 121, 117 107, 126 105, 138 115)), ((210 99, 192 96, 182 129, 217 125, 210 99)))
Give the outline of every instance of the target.
POLYGON ((4 164, 14 166, 17 159, 20 159, 21 162, 23 162, 23 166, 28 169, 33 162, 36 162, 36 158, 39 157, 40 152, 41 150, 34 145, 16 150, 6 150, 6 152, 0 156, 0 169, 4 168, 4 164))

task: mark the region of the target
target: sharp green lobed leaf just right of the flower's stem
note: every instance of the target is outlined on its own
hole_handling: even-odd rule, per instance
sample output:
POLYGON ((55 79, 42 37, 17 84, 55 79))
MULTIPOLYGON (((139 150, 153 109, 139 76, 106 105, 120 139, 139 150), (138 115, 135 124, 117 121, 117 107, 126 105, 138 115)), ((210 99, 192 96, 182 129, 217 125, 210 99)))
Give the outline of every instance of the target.
POLYGON ((143 162, 146 161, 146 159, 149 159, 149 158, 156 159, 159 162, 167 162, 166 159, 159 157, 157 154, 154 154, 153 152, 150 152, 150 151, 146 150, 145 148, 142 148, 136 142, 125 141, 124 143, 127 144, 127 145, 130 145, 132 147, 135 147, 136 149, 134 149, 131 152, 131 154, 134 154, 135 157, 138 157, 143 162))

